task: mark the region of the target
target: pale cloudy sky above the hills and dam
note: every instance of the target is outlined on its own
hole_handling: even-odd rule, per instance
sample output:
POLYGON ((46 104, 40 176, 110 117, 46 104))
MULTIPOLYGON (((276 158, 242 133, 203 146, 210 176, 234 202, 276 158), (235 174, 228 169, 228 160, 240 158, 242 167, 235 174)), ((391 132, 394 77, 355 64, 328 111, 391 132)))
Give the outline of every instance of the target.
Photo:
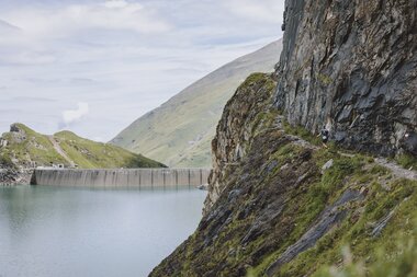
POLYGON ((284 0, 1 0, 0 132, 109 141, 282 36, 284 0))

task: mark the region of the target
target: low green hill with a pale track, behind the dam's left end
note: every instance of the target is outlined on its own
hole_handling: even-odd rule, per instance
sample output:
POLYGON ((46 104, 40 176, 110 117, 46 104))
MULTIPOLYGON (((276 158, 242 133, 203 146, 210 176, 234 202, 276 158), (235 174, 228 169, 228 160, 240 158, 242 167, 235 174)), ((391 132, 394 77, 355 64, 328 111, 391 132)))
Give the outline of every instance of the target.
POLYGON ((23 124, 13 124, 2 136, 0 163, 9 166, 65 164, 80 169, 160 168, 161 163, 109 143, 83 139, 70 131, 54 136, 38 134, 23 124))

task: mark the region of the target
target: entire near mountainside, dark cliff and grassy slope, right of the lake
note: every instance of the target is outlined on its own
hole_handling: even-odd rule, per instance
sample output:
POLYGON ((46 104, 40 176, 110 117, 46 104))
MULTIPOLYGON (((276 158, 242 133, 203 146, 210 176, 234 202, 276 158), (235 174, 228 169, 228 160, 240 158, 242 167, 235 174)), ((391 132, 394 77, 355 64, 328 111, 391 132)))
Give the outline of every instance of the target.
POLYGON ((204 216, 151 277, 417 276, 417 2, 285 7, 277 72, 226 104, 204 216))

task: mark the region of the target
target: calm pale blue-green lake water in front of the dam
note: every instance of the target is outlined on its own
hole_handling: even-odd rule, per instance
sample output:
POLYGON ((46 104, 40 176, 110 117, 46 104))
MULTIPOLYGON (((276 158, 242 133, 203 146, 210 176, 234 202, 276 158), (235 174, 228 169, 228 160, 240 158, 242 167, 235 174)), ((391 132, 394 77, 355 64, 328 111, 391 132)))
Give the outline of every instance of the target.
POLYGON ((0 187, 0 277, 147 276, 195 230, 205 196, 0 187))

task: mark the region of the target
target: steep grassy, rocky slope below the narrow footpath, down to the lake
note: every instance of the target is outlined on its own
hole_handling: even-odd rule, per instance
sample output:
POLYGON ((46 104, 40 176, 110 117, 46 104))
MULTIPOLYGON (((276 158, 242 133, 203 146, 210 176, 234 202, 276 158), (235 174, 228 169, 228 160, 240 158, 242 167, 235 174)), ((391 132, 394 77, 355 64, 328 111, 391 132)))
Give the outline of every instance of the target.
POLYGON ((266 78, 247 81, 226 106, 214 197, 150 276, 416 276, 417 181, 289 135, 279 111, 264 112, 271 97, 260 97, 258 113, 243 108, 243 92, 259 96, 266 78))

